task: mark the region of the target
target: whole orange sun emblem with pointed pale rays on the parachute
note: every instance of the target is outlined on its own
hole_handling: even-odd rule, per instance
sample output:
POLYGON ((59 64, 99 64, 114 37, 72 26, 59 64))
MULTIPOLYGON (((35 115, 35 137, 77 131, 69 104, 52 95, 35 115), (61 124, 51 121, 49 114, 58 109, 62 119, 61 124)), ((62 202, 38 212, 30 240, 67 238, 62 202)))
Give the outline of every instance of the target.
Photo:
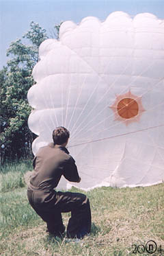
POLYGON ((126 126, 133 121, 139 121, 141 113, 145 111, 141 103, 141 97, 137 97, 131 91, 116 95, 115 102, 110 108, 115 114, 115 120, 124 121, 126 126))

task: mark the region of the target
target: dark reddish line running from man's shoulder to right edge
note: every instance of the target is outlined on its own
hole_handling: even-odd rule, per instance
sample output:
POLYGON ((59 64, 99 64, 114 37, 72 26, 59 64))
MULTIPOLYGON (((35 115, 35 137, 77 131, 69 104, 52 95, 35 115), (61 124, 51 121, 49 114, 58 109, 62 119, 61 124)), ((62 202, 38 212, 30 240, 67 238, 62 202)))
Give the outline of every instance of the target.
POLYGON ((133 133, 136 133, 136 132, 143 132, 145 130, 150 130, 150 129, 154 129, 154 128, 158 128, 158 127, 161 127, 161 126, 164 126, 164 124, 161 124, 159 126, 150 126, 148 128, 143 128, 141 130, 135 130, 133 132, 125 132, 125 133, 122 133, 120 135, 113 135, 111 137, 106 137, 106 138, 102 138, 102 139, 95 139, 95 140, 92 140, 92 141, 87 141, 87 142, 83 142, 83 143, 79 143, 79 144, 75 144, 75 145, 72 145, 72 146, 68 146, 68 148, 73 148, 73 147, 77 147, 77 146, 81 146, 81 145, 85 145, 85 144, 89 144, 89 143, 93 143, 93 142, 97 142, 97 141, 105 141, 106 139, 113 139, 115 137, 121 137, 121 136, 125 136, 125 135, 131 135, 133 133))

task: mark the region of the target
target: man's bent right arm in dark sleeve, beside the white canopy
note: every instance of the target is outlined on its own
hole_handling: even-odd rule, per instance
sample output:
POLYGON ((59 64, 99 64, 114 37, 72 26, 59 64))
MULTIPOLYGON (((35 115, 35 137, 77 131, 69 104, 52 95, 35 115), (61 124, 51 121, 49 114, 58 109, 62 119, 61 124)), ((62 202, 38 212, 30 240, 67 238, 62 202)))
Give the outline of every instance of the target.
POLYGON ((79 173, 77 171, 77 165, 75 164, 74 159, 70 156, 70 159, 66 162, 64 166, 64 177, 70 182, 79 183, 81 178, 79 177, 79 173))

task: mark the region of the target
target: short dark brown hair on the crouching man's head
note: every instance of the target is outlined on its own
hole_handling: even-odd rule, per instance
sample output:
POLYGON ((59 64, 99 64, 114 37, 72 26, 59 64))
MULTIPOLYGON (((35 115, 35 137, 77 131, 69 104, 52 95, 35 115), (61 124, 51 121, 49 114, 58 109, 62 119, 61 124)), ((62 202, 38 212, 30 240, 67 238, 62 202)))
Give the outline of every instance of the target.
POLYGON ((59 126, 53 130, 53 143, 54 145, 61 145, 68 141, 70 132, 63 126, 59 126))

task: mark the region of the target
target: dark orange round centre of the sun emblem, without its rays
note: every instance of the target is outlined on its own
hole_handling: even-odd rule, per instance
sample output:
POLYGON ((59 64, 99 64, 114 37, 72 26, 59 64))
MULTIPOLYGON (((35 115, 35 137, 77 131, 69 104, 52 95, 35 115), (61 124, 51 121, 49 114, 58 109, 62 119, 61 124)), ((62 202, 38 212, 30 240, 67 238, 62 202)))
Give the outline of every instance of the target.
POLYGON ((130 97, 120 100, 120 102, 118 102, 117 109, 118 115, 125 119, 135 117, 139 113, 138 103, 130 97))

